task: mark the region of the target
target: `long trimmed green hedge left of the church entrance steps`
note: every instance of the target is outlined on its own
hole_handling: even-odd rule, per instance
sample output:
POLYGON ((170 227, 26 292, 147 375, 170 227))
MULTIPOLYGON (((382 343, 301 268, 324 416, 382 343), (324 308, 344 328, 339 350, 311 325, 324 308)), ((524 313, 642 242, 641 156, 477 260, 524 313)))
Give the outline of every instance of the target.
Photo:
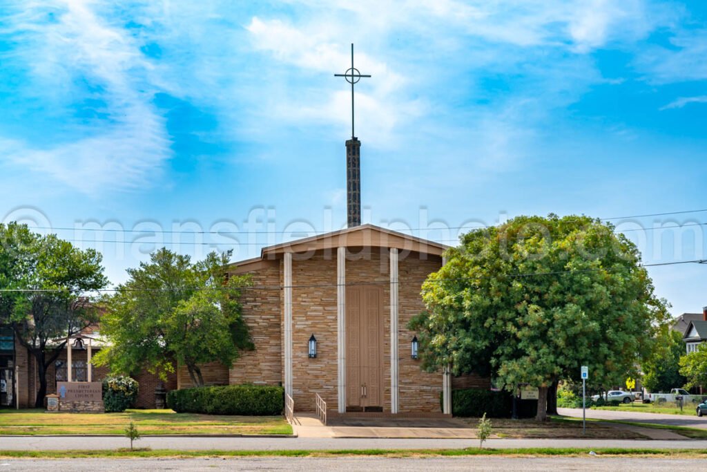
POLYGON ((285 408, 285 389, 259 385, 184 388, 167 393, 167 406, 177 413, 281 415, 285 408))

